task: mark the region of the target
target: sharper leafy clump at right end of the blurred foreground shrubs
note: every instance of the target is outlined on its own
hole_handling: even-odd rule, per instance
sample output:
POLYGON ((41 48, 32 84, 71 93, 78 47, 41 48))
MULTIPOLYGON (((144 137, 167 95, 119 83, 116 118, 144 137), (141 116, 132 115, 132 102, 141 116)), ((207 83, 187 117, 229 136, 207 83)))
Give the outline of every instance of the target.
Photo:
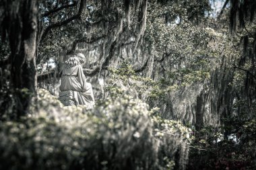
POLYGON ((153 108, 151 112, 154 134, 160 140, 158 157, 161 164, 166 165, 167 169, 184 169, 189 154, 191 129, 181 122, 161 118, 159 108, 153 108))

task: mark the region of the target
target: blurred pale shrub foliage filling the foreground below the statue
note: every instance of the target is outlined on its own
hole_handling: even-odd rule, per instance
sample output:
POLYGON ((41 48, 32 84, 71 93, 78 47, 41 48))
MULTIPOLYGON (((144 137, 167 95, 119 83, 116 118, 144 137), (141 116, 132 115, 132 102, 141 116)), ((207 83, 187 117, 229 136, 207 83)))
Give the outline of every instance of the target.
POLYGON ((86 110, 40 89, 28 116, 1 122, 0 169, 172 169, 189 131, 157 115, 127 93, 86 110))

